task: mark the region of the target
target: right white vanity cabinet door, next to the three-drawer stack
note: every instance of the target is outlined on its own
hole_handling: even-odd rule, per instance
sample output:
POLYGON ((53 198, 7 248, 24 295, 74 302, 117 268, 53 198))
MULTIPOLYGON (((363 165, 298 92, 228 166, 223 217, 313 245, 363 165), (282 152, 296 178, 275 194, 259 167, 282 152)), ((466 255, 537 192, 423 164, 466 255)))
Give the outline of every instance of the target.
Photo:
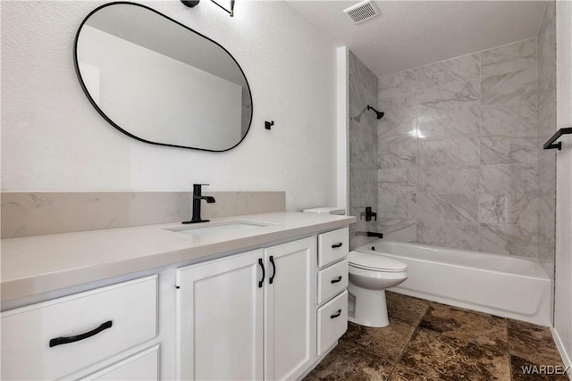
POLYGON ((265 249, 267 380, 299 378, 313 360, 316 245, 310 237, 265 249))

